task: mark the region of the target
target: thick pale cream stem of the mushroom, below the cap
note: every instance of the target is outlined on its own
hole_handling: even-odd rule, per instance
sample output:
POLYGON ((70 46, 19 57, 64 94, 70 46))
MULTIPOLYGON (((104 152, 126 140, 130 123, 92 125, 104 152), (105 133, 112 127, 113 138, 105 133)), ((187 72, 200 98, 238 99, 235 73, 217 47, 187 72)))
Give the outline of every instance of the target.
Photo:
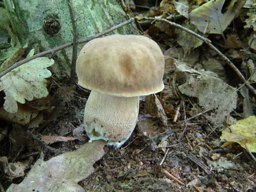
POLYGON ((93 140, 122 146, 137 123, 139 96, 119 97, 92 91, 84 109, 84 128, 93 140))

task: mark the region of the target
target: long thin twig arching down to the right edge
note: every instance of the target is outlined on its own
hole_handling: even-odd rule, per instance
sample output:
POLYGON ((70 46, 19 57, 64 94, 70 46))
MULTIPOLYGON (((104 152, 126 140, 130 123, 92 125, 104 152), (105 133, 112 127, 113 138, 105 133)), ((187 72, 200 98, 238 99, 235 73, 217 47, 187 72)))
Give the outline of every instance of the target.
POLYGON ((238 68, 229 60, 228 57, 226 57, 220 50, 218 50, 213 44, 211 44, 210 40, 195 33, 194 31, 191 31, 184 26, 181 26, 175 22, 171 22, 167 19, 160 18, 160 17, 135 17, 137 20, 151 20, 151 21, 159 21, 159 22, 166 22, 169 25, 175 26, 183 31, 186 31, 190 33, 191 35, 194 35, 195 37, 201 39, 205 44, 207 44, 210 48, 212 48, 221 58, 235 71, 235 73, 238 75, 240 80, 245 83, 245 85, 253 92, 253 94, 256 96, 256 90, 247 83, 246 79, 244 78, 243 74, 238 70, 238 68))

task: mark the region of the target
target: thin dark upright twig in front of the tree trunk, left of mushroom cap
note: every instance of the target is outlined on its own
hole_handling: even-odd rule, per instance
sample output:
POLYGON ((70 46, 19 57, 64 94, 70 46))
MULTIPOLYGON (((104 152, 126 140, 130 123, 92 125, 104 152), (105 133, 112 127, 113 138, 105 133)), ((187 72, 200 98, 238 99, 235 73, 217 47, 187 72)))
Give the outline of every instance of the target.
POLYGON ((76 61, 76 56, 77 56, 77 46, 78 46, 78 33, 77 33, 77 25, 76 25, 76 20, 75 20, 75 11, 73 8, 73 4, 71 0, 66 0, 70 17, 71 17, 71 22, 72 22, 72 28, 73 28, 73 52, 72 52, 72 61, 71 61, 71 73, 70 73, 70 79, 71 83, 75 84, 75 61, 76 61))

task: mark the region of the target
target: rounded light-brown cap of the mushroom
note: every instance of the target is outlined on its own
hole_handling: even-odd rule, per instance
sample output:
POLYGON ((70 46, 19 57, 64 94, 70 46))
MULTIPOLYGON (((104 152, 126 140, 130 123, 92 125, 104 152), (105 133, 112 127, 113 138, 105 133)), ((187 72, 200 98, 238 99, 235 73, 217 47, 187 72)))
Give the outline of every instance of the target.
POLYGON ((163 53, 142 35, 110 35, 84 45, 76 61, 78 84, 113 96, 143 96, 163 90, 163 53))

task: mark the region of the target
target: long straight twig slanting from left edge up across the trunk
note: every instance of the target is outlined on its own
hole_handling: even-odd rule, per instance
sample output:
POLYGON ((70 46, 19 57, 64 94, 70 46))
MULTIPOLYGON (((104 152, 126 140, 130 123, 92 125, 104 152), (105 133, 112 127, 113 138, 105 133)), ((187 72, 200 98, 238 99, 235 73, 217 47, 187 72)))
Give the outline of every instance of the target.
MULTIPOLYGON (((122 22, 122 23, 120 23, 120 24, 118 24, 118 25, 116 25, 116 26, 111 27, 110 29, 108 29, 108 30, 106 30, 106 31, 103 31, 103 32, 101 32, 101 33, 98 33, 98 34, 96 34, 96 35, 93 35, 93 36, 91 36, 91 37, 88 37, 88 38, 86 38, 86 39, 78 40, 78 43, 81 44, 81 43, 88 42, 88 41, 90 41, 90 40, 92 40, 92 39, 95 39, 95 38, 97 38, 97 37, 100 37, 100 36, 102 36, 102 35, 105 35, 105 34, 111 32, 111 31, 115 31, 116 29, 119 29, 120 27, 125 26, 125 25, 127 25, 127 24, 129 24, 129 23, 131 23, 131 22, 134 22, 134 18, 133 18, 133 17, 130 18, 129 20, 125 21, 125 22, 122 22)), ((64 49, 64 48, 70 47, 72 44, 73 44, 73 43, 63 44, 63 45, 61 45, 61 46, 59 46, 59 47, 52 48, 52 49, 49 49, 49 50, 47 50, 47 51, 37 53, 37 54, 33 55, 32 57, 28 57, 28 58, 26 58, 26 59, 23 59, 23 60, 21 60, 21 61, 18 61, 18 62, 16 62, 16 63, 14 63, 12 66, 10 66, 9 68, 7 68, 6 70, 4 70, 2 73, 0 73, 0 78, 3 77, 5 74, 9 73, 11 70, 14 70, 14 69, 17 68, 18 66, 20 66, 20 65, 22 65, 22 64, 24 64, 24 63, 26 63, 26 62, 28 62, 28 61, 31 61, 31 60, 33 60, 33 59, 35 59, 35 58, 37 58, 37 57, 43 57, 43 56, 45 56, 45 55, 47 55, 47 54, 53 54, 54 52, 57 52, 57 51, 62 50, 62 49, 64 49)))

